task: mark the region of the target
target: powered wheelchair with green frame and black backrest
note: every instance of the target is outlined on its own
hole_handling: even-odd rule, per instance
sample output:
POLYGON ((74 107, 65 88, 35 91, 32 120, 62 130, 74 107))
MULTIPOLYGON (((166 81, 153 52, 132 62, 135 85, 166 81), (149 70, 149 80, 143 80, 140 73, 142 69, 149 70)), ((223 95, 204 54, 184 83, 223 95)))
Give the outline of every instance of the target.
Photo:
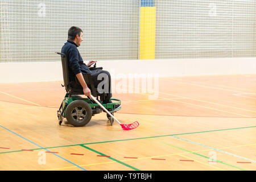
MULTIPOLYGON (((64 100, 61 102, 59 110, 57 110, 57 118, 59 119, 59 125, 63 122, 63 119, 66 118, 68 123, 70 123, 73 126, 84 126, 86 125, 93 115, 99 114, 102 111, 104 111, 96 102, 94 102, 92 99, 84 98, 79 96, 80 94, 83 95, 82 88, 75 89, 72 88, 70 82, 69 82, 69 76, 68 76, 68 62, 67 62, 67 56, 64 53, 56 52, 57 54, 61 55, 61 63, 63 68, 63 78, 64 78, 64 85, 66 94, 64 100)), ((96 64, 94 64, 92 69, 102 69, 96 68, 96 64)), ((85 82, 88 86, 90 86, 92 95, 97 98, 100 96, 101 100, 98 100, 108 111, 114 115, 114 113, 121 109, 121 100, 110 98, 112 102, 108 104, 102 103, 102 98, 105 96, 105 94, 100 94, 97 92, 97 89, 94 87, 92 77, 90 73, 83 75, 85 82), (118 107, 116 107, 119 105, 118 107)), ((79 84, 79 81, 77 81, 77 84, 79 84)), ((105 111, 104 111, 105 112, 105 111)), ((110 117, 109 114, 106 114, 108 121, 110 121, 110 125, 113 125, 114 118, 110 117)))

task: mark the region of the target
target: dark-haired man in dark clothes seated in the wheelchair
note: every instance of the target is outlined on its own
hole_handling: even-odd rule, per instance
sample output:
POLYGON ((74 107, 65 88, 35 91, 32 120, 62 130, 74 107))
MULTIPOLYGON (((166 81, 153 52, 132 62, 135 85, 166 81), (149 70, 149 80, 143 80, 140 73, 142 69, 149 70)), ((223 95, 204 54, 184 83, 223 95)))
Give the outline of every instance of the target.
MULTIPOLYGON (((112 97, 111 90, 111 77, 108 71, 99 69, 90 68, 92 64, 97 61, 89 61, 88 64, 85 64, 82 60, 82 57, 79 53, 77 47, 81 45, 82 42, 82 30, 79 27, 71 27, 68 30, 68 40, 61 48, 61 53, 64 53, 67 56, 68 60, 68 72, 69 72, 69 81, 72 88, 81 88, 85 96, 90 96, 91 91, 88 85, 85 82, 84 76, 87 73, 90 73, 94 86, 97 88, 97 92, 102 94, 103 104, 112 102, 110 98, 112 97), (104 78, 102 80, 102 78, 104 78), (79 82, 77 82, 77 80, 79 82), (102 84, 103 82, 103 84, 102 84)), ((118 107, 115 106, 115 107, 118 107)))

